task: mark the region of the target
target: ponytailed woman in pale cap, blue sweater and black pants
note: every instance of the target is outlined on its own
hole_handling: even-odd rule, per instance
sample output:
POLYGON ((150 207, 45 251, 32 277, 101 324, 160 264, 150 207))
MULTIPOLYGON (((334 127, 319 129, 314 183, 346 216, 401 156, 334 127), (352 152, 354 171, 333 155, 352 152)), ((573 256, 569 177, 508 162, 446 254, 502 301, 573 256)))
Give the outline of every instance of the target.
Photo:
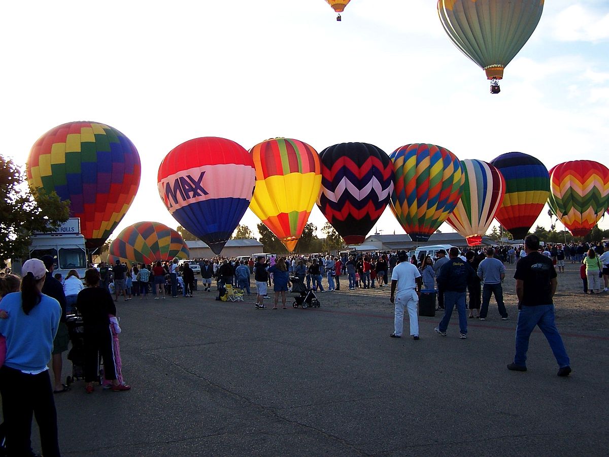
POLYGON ((41 291, 46 267, 38 259, 21 268, 21 292, 2 299, 9 314, 0 319, 0 333, 6 338, 6 359, 0 368, 0 394, 6 431, 7 455, 33 455, 30 447, 32 414, 40 430, 42 453, 59 456, 57 411, 47 364, 62 307, 41 291))

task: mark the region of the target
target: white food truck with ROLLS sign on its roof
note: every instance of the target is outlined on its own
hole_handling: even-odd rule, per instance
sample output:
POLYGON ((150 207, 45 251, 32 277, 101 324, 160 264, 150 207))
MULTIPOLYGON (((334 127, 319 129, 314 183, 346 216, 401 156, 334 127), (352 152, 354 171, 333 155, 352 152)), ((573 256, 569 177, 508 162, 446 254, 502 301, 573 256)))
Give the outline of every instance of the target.
POLYGON ((53 274, 61 273, 62 278, 65 278, 70 270, 76 270, 80 278, 84 278, 87 264, 80 219, 70 218, 49 233, 32 233, 29 253, 30 258, 52 255, 55 259, 53 274))

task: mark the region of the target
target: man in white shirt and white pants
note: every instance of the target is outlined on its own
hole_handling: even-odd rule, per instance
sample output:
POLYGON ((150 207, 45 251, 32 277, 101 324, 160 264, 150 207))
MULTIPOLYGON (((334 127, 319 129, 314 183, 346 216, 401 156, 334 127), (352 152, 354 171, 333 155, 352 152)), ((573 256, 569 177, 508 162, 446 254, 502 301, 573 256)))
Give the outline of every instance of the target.
POLYGON ((410 321, 410 335, 413 339, 418 336, 418 314, 417 303, 421 292, 421 273, 414 264, 408 261, 408 254, 401 250, 398 252, 398 263, 391 274, 391 297, 390 302, 395 303, 395 330, 391 338, 402 338, 404 329, 404 307, 408 310, 410 321))

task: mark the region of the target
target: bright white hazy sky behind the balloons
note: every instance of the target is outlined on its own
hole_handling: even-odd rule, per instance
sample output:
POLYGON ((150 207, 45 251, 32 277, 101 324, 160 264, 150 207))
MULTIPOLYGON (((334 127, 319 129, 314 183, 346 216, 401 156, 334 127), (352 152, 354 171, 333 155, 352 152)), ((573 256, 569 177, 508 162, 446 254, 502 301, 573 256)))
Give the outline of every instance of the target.
MULTIPOLYGON (((324 0, 1 2, 0 154, 24 168, 38 137, 69 121, 127 135, 142 176, 113 236, 139 221, 177 227, 158 166, 200 136, 246 149, 286 136, 319 152, 432 143, 461 160, 520 151, 547 168, 609 166, 609 2, 546 1, 498 95, 436 3, 352 0, 337 22, 324 0)), ((546 210, 537 223, 548 228, 546 210)), ((309 221, 325 218, 314 207, 309 221)), ((242 219, 258 223, 250 210, 242 219)), ((389 208, 375 230, 404 233, 389 208)))

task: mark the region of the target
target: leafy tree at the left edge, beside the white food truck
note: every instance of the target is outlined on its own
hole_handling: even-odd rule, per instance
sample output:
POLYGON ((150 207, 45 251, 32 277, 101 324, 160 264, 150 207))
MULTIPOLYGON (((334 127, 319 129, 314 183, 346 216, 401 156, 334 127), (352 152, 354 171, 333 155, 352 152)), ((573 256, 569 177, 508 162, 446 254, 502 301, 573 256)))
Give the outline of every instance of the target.
POLYGON ((50 232, 69 218, 69 201, 43 189, 25 189, 25 178, 0 155, 0 262, 28 255, 32 232, 50 232))

